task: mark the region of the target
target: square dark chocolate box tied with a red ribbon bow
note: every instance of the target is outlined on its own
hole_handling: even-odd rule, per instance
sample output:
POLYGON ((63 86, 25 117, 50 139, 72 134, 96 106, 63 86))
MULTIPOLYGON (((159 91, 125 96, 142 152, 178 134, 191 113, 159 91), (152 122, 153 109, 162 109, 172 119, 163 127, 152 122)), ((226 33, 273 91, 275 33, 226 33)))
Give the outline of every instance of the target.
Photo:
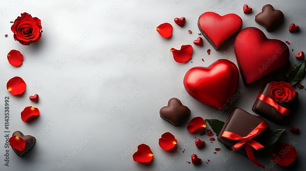
POLYGON ((218 141, 248 156, 257 166, 263 167, 255 158, 254 151, 263 148, 269 124, 261 117, 240 108, 234 108, 226 120, 218 141))

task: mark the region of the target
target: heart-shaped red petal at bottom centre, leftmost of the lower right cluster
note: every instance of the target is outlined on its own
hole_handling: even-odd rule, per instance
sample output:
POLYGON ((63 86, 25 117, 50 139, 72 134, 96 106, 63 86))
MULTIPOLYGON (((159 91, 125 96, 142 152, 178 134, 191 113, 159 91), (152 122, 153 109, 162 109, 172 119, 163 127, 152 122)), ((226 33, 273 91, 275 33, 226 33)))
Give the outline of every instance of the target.
POLYGON ((140 144, 137 147, 137 151, 133 154, 133 160, 135 162, 150 162, 153 159, 153 152, 151 148, 146 144, 140 144))

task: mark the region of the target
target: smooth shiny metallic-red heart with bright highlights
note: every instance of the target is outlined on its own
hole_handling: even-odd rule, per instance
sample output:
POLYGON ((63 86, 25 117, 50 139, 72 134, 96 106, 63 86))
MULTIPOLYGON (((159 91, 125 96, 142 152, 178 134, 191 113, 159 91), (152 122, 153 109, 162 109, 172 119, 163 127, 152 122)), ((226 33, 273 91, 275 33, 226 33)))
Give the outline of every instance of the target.
POLYGON ((237 66, 226 59, 219 59, 209 67, 193 67, 184 77, 188 94, 215 108, 222 108, 236 93, 238 82, 237 66))

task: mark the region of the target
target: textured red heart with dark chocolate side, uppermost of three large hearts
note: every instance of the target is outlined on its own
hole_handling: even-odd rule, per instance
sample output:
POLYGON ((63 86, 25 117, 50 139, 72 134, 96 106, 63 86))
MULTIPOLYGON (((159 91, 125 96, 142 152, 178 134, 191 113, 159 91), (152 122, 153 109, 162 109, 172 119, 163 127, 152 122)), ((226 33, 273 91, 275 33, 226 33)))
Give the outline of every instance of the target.
POLYGON ((207 41, 218 50, 239 33, 242 20, 236 14, 220 16, 214 12, 206 12, 200 15, 198 27, 207 41))

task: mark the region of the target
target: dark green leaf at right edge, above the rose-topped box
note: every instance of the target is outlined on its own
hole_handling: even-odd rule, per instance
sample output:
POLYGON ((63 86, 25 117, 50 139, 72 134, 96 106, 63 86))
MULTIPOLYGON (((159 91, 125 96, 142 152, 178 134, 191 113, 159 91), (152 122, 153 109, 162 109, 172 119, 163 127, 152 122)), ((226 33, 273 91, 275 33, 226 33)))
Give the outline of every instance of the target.
POLYGON ((288 81, 291 85, 296 85, 305 77, 306 60, 292 66, 291 69, 293 69, 293 71, 290 72, 288 81))

